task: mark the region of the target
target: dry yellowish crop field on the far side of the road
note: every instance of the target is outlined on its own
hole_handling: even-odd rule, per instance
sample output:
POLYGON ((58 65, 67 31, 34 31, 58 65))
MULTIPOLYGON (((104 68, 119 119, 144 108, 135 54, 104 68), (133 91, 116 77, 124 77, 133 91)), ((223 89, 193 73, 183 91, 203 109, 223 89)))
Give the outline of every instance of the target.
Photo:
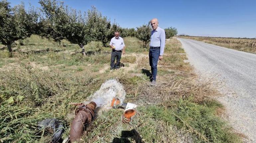
POLYGON ((256 39, 178 36, 256 54, 256 39))

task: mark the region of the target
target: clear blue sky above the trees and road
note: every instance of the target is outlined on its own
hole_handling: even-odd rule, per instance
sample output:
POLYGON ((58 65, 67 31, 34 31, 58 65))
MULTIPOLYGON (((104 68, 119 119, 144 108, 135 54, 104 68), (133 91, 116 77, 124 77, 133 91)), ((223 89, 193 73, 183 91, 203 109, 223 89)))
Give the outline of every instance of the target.
MULTIPOLYGON (((11 6, 19 0, 8 0, 11 6)), ((38 0, 23 0, 39 7, 38 0)), ((136 28, 158 18, 161 28, 191 36, 256 37, 256 0, 62 0, 87 11, 91 5, 121 27, 136 28)))

